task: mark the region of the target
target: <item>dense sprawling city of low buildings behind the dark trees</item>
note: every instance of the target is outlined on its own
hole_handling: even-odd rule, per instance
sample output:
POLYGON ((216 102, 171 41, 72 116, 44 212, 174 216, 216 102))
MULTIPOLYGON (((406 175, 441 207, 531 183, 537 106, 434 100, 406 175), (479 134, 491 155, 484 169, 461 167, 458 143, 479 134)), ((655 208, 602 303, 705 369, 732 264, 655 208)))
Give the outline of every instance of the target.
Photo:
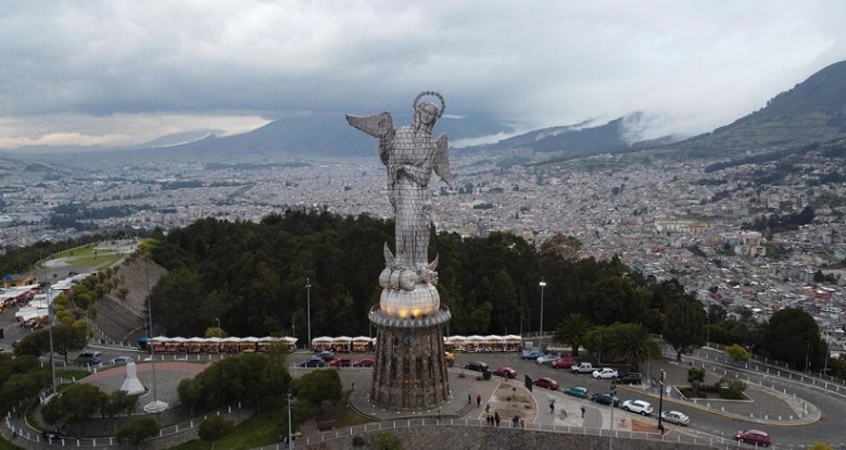
MULTIPOLYGON (((286 209, 391 215, 384 171, 375 158, 289 164, 128 160, 102 166, 87 161, 85 168, 18 164, 23 170, 10 167, 1 187, 7 227, 0 237, 8 251, 80 233, 167 230, 210 216, 257 222, 286 209)), ((636 153, 552 162, 530 151, 493 158, 458 149, 452 165, 454 186, 430 186, 439 232, 510 232, 538 245, 555 234, 572 236, 580 241, 571 249, 578 258, 618 255, 645 276, 678 278, 705 305, 720 303, 730 313, 748 307, 767 318, 781 308, 800 308, 813 314, 833 357, 846 345, 846 278, 837 265, 846 258, 837 202, 846 188, 809 183, 836 173, 830 160, 806 158, 795 171, 800 175, 771 185, 750 179, 775 172, 775 164, 711 171, 702 161, 636 153), (536 160, 502 164, 514 158, 536 160), (759 216, 797 214, 807 207, 816 212, 807 225, 769 236, 748 226, 759 216)))

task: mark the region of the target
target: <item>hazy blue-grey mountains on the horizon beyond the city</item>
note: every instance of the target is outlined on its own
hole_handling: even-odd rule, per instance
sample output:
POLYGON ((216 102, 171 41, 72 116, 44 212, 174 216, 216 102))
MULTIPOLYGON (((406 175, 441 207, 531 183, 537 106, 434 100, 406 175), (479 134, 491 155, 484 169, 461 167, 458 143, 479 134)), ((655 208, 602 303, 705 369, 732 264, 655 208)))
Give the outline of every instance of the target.
MULTIPOLYGON (((394 114, 395 124, 411 116, 394 114)), ((633 113, 605 124, 585 122, 538 129, 494 143, 464 147, 466 151, 497 152, 514 149, 550 153, 551 158, 578 158, 597 153, 661 148, 690 157, 732 155, 756 149, 783 149, 846 137, 846 61, 832 64, 792 89, 773 97, 766 107, 711 133, 687 139, 666 136, 637 140, 631 129, 645 120, 633 113)), ((492 117, 449 116, 438 122, 437 133, 446 133, 453 146, 483 137, 514 135, 514 129, 492 117)), ((199 130, 162 137, 126 149, 148 158, 186 157, 238 160, 279 160, 307 157, 367 157, 376 151, 373 137, 350 126, 342 114, 312 114, 282 118, 249 133, 219 137, 199 130)), ((80 152, 103 149, 39 148, 30 152, 80 152), (63 151, 62 151, 63 150, 63 151)), ((20 155, 21 153, 18 153, 20 155)))

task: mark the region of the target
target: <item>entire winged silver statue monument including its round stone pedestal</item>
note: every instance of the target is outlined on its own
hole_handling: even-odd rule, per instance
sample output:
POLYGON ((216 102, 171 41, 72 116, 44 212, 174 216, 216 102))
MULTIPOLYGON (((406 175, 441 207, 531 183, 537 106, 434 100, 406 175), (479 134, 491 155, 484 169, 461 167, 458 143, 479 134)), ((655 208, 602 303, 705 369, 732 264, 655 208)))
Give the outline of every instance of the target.
POLYGON ((431 409, 450 396, 443 328, 450 311, 441 307, 438 259, 428 262, 431 224, 432 171, 452 183, 446 135, 432 139, 432 127, 443 114, 440 93, 421 92, 414 100, 414 118, 393 127, 391 114, 357 117, 350 125, 379 138, 379 157, 388 171, 389 200, 394 211, 394 252, 384 246, 386 266, 379 275, 379 304, 369 313, 376 326, 376 359, 370 400, 382 408, 431 409), (440 108, 420 102, 440 100, 440 108))

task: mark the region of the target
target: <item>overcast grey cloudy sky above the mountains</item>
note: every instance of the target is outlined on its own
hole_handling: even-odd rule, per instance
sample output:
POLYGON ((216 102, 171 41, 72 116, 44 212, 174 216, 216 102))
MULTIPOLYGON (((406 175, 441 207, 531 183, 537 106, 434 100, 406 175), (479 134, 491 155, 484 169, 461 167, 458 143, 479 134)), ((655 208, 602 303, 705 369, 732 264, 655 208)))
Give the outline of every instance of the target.
MULTIPOLYGON (((242 133, 288 114, 709 132, 846 60, 846 1, 7 0, 0 148, 242 133)), ((339 123, 339 126, 346 126, 339 123)))

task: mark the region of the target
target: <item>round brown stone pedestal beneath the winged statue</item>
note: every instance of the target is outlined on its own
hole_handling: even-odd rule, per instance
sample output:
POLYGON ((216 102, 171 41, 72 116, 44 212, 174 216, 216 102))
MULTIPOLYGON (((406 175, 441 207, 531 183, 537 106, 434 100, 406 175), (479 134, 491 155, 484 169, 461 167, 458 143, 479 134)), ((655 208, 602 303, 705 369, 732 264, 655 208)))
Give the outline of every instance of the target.
POLYGON ((415 411, 449 400, 443 326, 450 316, 446 310, 408 318, 370 311, 377 328, 370 401, 381 408, 415 411))

